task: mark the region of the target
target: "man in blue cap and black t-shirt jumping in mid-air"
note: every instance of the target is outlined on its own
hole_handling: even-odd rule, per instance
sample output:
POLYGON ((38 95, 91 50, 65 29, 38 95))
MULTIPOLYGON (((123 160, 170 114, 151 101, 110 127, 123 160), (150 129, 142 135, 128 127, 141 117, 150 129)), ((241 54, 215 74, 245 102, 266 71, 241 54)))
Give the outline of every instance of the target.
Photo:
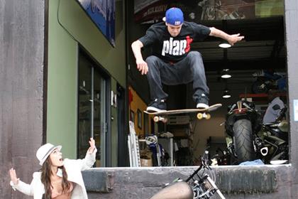
POLYGON ((146 111, 160 112, 167 109, 167 93, 162 90, 162 83, 180 85, 192 81, 193 99, 197 108, 208 108, 209 87, 206 85, 202 55, 190 51, 190 44, 203 41, 207 36, 215 36, 233 45, 244 37, 239 33, 228 35, 213 27, 184 21, 183 13, 178 8, 168 9, 163 19, 165 22, 150 26, 145 36, 131 44, 137 68, 148 78, 152 102, 146 111), (140 49, 148 46, 153 46, 153 55, 144 61, 140 49))

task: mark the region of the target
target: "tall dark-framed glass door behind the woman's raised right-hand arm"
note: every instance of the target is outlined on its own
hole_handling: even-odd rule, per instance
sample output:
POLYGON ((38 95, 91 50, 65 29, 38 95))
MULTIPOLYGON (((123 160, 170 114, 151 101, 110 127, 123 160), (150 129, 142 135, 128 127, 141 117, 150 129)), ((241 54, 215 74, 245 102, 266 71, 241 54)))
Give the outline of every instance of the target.
POLYGON ((78 158, 84 158, 93 137, 96 167, 106 166, 106 80, 87 55, 79 55, 78 158))

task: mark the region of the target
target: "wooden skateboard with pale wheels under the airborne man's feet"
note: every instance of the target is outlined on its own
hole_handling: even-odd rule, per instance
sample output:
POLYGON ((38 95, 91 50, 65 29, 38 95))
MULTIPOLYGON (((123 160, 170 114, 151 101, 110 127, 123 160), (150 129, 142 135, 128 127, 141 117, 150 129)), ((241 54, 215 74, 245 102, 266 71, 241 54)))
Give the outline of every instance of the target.
POLYGON ((188 113, 197 113, 197 119, 210 119, 211 114, 210 112, 219 109, 222 104, 213 104, 207 109, 177 109, 177 110, 170 110, 170 111, 162 111, 162 112, 146 112, 146 114, 153 114, 154 122, 167 122, 167 116, 171 114, 188 114, 188 113))

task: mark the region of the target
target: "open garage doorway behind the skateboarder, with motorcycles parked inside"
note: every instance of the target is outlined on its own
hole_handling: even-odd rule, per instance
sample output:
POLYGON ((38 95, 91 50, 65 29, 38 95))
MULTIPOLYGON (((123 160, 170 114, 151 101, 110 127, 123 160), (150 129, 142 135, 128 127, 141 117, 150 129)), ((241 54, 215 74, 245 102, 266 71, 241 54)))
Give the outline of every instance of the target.
MULTIPOLYGON (((133 99, 138 97, 142 105, 130 102, 130 120, 140 140, 141 158, 149 160, 145 166, 198 165, 206 149, 213 165, 289 163, 284 1, 187 2, 167 6, 182 8, 187 21, 245 38, 231 48, 219 47, 223 41, 214 37, 192 43, 192 50, 199 51, 204 61, 209 105, 222 104, 210 112, 210 119, 198 119, 197 113, 173 114, 167 122, 144 117, 142 103, 150 101, 148 84, 131 60, 128 82, 136 93, 133 99), (146 143, 148 136, 156 136, 157 144, 146 143), (163 151, 157 153, 159 148, 163 151)), ((131 41, 160 21, 158 14, 163 16, 163 10, 151 21, 138 17, 157 4, 135 11, 133 23, 138 31, 131 32, 131 41)), ((145 58, 150 50, 142 53, 145 58)), ((192 83, 163 85, 163 90, 169 95, 167 109, 195 108, 192 83)))

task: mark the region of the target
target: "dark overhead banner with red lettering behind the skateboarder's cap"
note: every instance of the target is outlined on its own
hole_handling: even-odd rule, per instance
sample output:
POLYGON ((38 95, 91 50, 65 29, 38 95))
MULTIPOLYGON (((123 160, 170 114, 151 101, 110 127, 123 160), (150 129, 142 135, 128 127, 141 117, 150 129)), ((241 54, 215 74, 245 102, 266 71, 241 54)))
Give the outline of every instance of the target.
POLYGON ((255 18, 255 0, 135 0, 135 21, 161 21, 170 7, 182 9, 186 21, 255 18))

